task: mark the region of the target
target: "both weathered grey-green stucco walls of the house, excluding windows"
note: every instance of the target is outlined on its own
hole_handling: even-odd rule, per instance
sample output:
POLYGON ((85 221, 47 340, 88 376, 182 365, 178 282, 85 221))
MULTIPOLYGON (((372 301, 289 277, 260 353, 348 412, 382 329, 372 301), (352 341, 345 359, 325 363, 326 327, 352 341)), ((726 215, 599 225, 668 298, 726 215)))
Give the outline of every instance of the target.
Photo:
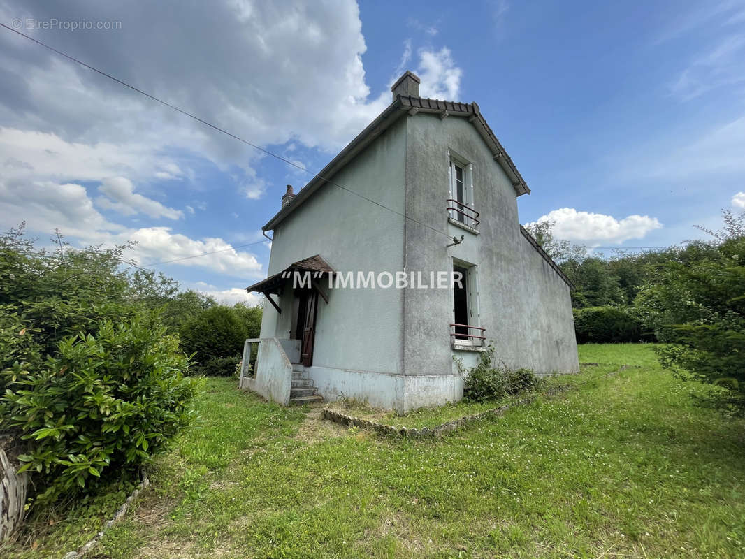
MULTIPOLYGON (((516 194, 466 119, 419 113, 393 124, 274 230, 269 274, 320 254, 338 271, 449 271, 477 265, 478 322, 509 367, 578 370, 568 286, 519 230, 516 194), (479 235, 448 224, 448 148, 474 165, 479 235), (405 220, 396 212, 405 212, 405 220), (428 224, 425 227, 417 221, 428 224), (433 230, 434 228, 434 230, 433 230), (448 236, 465 236, 447 247, 448 236)), ((326 399, 355 397, 406 411, 460 398, 451 349, 452 292, 329 289, 319 299, 311 378, 326 399)), ((264 306, 261 338, 289 338, 291 289, 278 315, 264 306)), ((474 323, 475 320, 472 322, 474 323)))

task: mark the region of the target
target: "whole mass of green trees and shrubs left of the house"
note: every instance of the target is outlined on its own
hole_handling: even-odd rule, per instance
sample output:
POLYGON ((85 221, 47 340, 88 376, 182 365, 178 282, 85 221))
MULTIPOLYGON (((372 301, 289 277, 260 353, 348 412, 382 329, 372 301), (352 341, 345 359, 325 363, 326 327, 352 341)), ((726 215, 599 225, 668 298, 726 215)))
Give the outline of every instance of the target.
POLYGON ((32 512, 132 479, 194 419, 199 374, 232 374, 261 309, 131 265, 132 244, 0 236, 0 449, 32 512))

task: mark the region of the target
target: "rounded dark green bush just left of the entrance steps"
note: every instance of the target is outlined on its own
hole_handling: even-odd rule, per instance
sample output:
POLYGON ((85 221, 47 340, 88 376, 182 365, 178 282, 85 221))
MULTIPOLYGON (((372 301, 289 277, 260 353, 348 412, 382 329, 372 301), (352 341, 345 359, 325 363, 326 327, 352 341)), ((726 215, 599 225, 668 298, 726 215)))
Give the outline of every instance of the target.
POLYGON ((213 306, 183 323, 181 347, 194 355, 194 372, 230 376, 236 359, 241 359, 244 341, 257 338, 260 328, 259 307, 213 306))

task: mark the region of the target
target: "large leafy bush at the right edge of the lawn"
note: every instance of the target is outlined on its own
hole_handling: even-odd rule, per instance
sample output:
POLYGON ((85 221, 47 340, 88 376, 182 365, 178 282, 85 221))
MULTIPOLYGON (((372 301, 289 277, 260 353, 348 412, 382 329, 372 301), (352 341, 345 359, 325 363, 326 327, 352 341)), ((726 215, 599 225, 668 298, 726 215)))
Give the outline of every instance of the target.
POLYGON ((662 267, 638 303, 671 342, 658 350, 662 364, 724 388, 707 403, 745 415, 745 213, 725 218, 727 234, 662 267))

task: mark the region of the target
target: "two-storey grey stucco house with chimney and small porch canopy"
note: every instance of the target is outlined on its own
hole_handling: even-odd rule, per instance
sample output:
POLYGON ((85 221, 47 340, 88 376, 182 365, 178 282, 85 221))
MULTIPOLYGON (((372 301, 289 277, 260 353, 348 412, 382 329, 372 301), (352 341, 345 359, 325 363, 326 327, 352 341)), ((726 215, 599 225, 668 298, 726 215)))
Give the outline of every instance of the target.
POLYGON ((406 72, 264 225, 269 277, 247 290, 268 304, 241 387, 408 411, 460 399, 458 361, 488 344, 507 367, 579 370, 568 279, 519 224, 529 192, 478 104, 419 97, 406 72))

